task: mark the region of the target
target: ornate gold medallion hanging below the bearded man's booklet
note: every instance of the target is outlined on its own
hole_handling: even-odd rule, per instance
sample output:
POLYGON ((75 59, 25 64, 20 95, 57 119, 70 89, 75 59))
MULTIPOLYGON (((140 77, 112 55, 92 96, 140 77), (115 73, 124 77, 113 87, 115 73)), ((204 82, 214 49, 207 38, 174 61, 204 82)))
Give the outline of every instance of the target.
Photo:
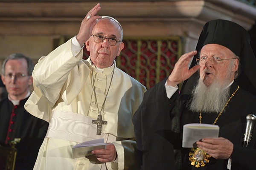
POLYGON ((209 163, 210 158, 210 155, 198 147, 192 147, 189 152, 189 161, 191 161, 191 164, 195 167, 204 167, 209 163))

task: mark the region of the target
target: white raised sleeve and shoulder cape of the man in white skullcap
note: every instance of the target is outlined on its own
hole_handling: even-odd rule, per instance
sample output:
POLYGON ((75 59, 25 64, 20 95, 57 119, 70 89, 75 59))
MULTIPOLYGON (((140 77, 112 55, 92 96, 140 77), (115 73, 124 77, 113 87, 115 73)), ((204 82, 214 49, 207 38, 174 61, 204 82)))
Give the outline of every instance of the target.
POLYGON ((25 109, 34 116, 49 122, 49 114, 61 97, 69 105, 83 87, 90 71, 82 59, 82 50, 73 56, 71 39, 46 57, 41 57, 33 71, 34 91, 25 109), (86 70, 86 69, 84 69, 86 70), (76 81, 74 81, 76 79, 76 81))

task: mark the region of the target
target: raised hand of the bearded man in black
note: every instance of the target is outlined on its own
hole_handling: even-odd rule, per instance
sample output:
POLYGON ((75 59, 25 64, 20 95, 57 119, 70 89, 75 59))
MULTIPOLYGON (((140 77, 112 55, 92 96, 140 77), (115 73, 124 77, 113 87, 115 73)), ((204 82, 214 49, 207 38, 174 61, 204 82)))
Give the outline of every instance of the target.
POLYGON ((200 65, 195 65, 189 69, 189 62, 191 58, 197 54, 197 51, 191 51, 189 53, 183 54, 180 59, 176 62, 174 69, 170 76, 168 77, 167 84, 175 87, 175 85, 180 84, 189 77, 192 76, 198 69, 200 65))

